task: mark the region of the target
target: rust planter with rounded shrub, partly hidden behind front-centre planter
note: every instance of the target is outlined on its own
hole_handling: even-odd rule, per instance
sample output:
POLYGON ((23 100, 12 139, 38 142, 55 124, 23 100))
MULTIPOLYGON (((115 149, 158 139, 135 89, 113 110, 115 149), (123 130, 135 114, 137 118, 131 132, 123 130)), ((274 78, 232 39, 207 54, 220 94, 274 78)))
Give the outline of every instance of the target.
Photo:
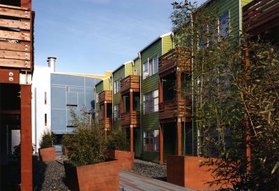
POLYGON ((135 153, 130 152, 130 142, 120 128, 113 128, 107 133, 107 151, 105 156, 119 160, 120 169, 133 169, 135 153))

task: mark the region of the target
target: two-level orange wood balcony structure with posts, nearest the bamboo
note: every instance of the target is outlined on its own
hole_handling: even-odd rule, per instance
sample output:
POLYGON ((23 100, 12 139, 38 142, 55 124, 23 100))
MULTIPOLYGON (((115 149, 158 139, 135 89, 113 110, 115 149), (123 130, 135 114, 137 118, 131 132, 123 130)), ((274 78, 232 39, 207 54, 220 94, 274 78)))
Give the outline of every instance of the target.
POLYGON ((176 123, 177 154, 181 155, 181 123, 190 122, 192 117, 191 100, 181 97, 181 72, 190 73, 190 51, 175 48, 158 59, 159 78, 159 141, 160 164, 163 164, 163 124, 176 123), (164 101, 163 80, 175 81, 175 97, 164 101))

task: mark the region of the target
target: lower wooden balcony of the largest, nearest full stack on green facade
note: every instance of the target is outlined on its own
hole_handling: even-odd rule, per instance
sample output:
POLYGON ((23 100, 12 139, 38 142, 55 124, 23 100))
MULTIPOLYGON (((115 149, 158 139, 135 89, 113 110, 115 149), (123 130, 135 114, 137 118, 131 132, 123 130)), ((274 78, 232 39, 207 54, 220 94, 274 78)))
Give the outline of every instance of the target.
POLYGON ((192 117, 191 106, 192 101, 190 99, 172 99, 159 103, 159 120, 161 122, 176 122, 177 117, 181 117, 181 122, 188 122, 192 117), (184 117, 186 119, 184 120, 184 117))

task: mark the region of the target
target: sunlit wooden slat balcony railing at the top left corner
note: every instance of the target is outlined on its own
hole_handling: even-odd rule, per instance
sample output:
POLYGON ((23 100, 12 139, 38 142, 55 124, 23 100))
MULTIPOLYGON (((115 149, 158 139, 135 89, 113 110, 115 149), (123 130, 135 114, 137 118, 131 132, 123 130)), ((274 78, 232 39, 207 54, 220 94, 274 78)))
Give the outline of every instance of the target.
POLYGON ((33 20, 29 8, 0 4, 0 67, 33 70, 33 20))

